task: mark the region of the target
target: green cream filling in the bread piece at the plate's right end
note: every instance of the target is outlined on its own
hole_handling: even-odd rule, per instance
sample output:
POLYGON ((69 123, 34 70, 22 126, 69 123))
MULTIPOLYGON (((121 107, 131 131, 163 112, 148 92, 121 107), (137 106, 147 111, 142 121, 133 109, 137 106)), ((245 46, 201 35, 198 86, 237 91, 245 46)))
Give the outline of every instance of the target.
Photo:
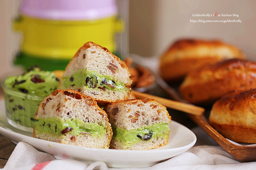
POLYGON ((126 130, 112 125, 113 137, 128 148, 141 141, 150 141, 156 137, 169 137, 170 129, 168 123, 156 123, 151 126, 145 126, 141 129, 126 130))

